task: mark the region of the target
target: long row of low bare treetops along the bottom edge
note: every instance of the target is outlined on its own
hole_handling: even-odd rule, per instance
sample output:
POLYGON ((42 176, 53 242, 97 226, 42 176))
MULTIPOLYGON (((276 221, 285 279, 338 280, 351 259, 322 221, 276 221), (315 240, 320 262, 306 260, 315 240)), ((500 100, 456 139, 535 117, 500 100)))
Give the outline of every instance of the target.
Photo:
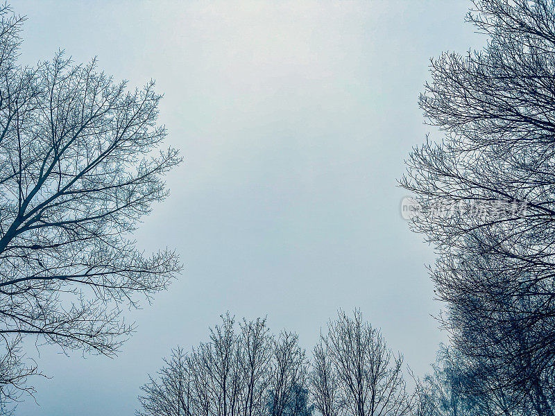
POLYGON ((296 333, 271 333, 266 318, 221 319, 206 343, 173 349, 149 376, 138 416, 536 414, 506 391, 491 390, 450 347, 442 345, 430 374, 416 378, 358 310, 339 311, 311 354, 296 333))

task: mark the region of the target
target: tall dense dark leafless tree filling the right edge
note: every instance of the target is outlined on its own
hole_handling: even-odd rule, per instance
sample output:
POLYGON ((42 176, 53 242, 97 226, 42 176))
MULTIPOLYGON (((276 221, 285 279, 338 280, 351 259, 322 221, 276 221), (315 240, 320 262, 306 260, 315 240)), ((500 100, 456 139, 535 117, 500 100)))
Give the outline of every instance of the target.
POLYGON ((555 404, 554 7, 475 1, 468 21, 488 44, 432 60, 420 106, 445 139, 416 148, 402 180, 428 213, 413 229, 438 250, 454 345, 538 415, 555 404))

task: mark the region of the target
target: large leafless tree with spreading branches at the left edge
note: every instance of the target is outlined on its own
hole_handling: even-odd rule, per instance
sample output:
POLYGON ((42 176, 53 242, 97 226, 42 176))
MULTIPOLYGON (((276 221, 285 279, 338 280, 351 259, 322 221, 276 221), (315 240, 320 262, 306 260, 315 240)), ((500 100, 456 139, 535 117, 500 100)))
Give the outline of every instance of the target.
POLYGON ((180 162, 173 148, 153 153, 160 95, 61 52, 18 66, 23 19, 0 15, 0 342, 112 356, 133 331, 121 311, 180 270, 173 252, 145 257, 130 240, 180 162))

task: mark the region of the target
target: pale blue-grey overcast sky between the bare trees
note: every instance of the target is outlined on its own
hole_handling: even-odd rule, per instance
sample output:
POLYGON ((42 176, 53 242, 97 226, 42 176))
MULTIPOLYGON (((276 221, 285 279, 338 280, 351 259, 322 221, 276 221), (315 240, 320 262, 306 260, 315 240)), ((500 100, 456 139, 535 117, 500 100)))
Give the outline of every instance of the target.
MULTIPOLYGON (((311 349, 338 308, 359 307, 423 374, 445 335, 425 263, 400 216, 403 159, 430 131, 418 94, 429 58, 483 40, 469 1, 14 1, 22 62, 65 49, 131 87, 154 78, 185 162, 144 218, 141 248, 185 270, 116 359, 40 349, 48 380, 18 415, 133 415, 172 347, 230 311, 268 315, 311 349)), ((439 137, 432 131, 432 137, 439 137)), ((29 354, 36 356, 30 349, 29 354)))

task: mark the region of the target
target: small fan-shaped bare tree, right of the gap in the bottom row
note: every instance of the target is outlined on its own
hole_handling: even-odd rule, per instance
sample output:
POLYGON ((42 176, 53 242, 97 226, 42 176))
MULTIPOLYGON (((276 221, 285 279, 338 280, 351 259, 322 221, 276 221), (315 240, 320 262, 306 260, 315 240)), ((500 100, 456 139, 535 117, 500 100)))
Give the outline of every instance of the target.
POLYGON ((352 318, 339 311, 328 324, 323 343, 339 378, 341 401, 353 416, 409 415, 413 395, 402 375, 402 356, 395 356, 381 333, 364 322, 360 311, 352 318))

